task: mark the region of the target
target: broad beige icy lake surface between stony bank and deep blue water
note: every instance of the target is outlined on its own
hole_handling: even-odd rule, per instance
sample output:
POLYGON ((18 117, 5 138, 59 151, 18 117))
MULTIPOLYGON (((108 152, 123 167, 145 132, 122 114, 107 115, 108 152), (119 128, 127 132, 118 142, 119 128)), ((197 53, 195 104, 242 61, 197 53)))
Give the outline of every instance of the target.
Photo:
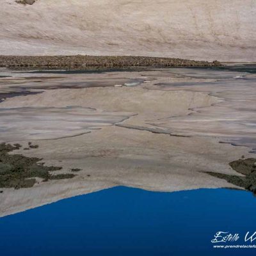
POLYGON ((0 216, 119 185, 151 191, 237 188, 205 172, 241 175, 228 163, 255 157, 255 74, 244 70, 3 74, 10 77, 0 78, 6 95, 0 140, 22 146, 10 154, 38 157, 63 173, 81 171, 73 179, 4 188, 0 216), (108 86, 95 86, 104 77, 108 86), (147 83, 114 87, 136 79, 147 83), (68 86, 74 80, 81 87, 68 86), (20 90, 37 94, 10 96, 20 90), (24 150, 31 140, 38 148, 24 150))

